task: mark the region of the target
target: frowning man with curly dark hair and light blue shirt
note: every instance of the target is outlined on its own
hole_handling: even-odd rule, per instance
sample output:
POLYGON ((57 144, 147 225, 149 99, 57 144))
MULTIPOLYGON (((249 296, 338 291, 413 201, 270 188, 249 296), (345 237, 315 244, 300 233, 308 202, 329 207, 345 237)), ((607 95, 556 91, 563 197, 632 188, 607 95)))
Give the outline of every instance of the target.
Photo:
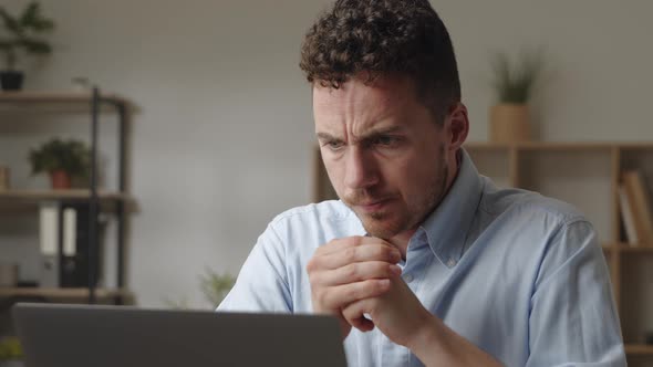
POLYGON ((608 269, 570 206, 500 190, 427 0, 339 0, 301 67, 340 201, 259 238, 219 310, 339 318, 351 366, 623 366, 608 269))

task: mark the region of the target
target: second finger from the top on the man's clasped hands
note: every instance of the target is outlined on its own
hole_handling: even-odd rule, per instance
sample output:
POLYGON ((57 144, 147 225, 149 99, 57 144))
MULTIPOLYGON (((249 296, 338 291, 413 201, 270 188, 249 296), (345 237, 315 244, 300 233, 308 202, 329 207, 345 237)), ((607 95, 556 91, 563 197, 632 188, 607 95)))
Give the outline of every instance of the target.
POLYGON ((400 251, 394 247, 363 244, 350 247, 338 252, 315 255, 307 265, 307 270, 333 270, 356 262, 384 261, 396 264, 402 259, 400 251))

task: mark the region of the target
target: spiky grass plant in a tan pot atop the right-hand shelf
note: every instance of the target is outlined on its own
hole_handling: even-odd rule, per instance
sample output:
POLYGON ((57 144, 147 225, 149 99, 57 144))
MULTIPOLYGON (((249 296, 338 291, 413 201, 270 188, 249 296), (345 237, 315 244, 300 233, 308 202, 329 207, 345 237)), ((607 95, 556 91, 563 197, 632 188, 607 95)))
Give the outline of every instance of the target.
POLYGON ((542 71, 541 52, 524 53, 519 63, 498 53, 493 61, 498 104, 490 108, 490 141, 530 140, 528 101, 542 71))

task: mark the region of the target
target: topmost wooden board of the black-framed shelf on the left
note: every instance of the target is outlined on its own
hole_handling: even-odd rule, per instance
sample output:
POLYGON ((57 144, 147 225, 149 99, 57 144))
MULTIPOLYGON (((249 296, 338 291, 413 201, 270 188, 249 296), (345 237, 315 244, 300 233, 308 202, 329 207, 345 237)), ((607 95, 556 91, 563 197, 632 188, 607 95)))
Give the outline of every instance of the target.
MULTIPOLYGON (((51 92, 0 92, 0 103, 89 103, 93 98, 92 93, 89 92, 69 92, 69 91, 51 91, 51 92)), ((102 94, 101 99, 127 105, 127 99, 114 95, 102 94)))

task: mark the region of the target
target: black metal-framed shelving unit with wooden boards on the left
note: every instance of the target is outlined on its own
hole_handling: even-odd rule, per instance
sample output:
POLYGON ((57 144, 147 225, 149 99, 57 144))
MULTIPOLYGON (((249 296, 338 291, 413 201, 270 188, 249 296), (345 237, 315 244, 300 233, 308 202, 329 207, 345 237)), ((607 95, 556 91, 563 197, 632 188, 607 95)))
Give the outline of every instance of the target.
MULTIPOLYGON (((0 211, 29 211, 42 201, 86 202, 90 207, 89 228, 89 286, 84 289, 0 287, 0 300, 42 298, 43 301, 66 301, 97 303, 132 303, 133 294, 125 287, 125 222, 129 207, 135 206, 126 192, 126 125, 129 103, 116 95, 101 94, 97 88, 89 92, 0 92, 0 116, 2 113, 49 113, 59 111, 90 114, 90 146, 92 153, 91 182, 89 189, 70 190, 21 190, 0 191, 0 211), (97 127, 100 115, 111 112, 117 115, 117 190, 97 189, 97 127), (107 211, 116 218, 116 289, 97 289, 95 272, 99 266, 99 212, 107 211)), ((60 249, 61 250, 61 249, 60 249)), ((60 251, 61 252, 61 251, 60 251)), ((60 258, 61 259, 61 258, 60 258)))

